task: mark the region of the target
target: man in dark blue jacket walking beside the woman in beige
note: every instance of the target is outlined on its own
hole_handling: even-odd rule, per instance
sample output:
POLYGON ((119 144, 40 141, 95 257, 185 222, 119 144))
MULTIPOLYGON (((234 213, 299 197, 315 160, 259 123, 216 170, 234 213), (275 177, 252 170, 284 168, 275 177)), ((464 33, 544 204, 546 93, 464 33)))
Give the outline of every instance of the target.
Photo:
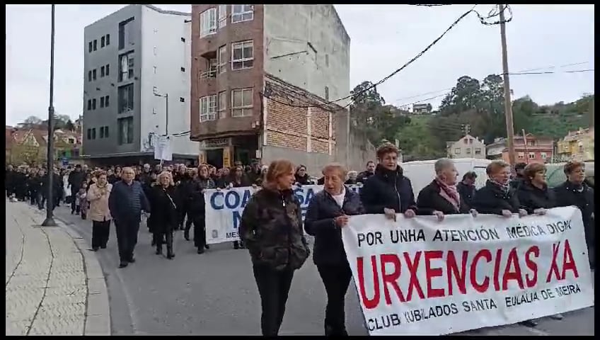
POLYGON ((133 252, 137 244, 139 221, 142 210, 150 212, 150 205, 142 185, 134 181, 132 168, 122 170, 122 180, 115 183, 108 197, 108 208, 113 216, 117 229, 117 246, 119 248, 119 268, 134 263, 133 252))

